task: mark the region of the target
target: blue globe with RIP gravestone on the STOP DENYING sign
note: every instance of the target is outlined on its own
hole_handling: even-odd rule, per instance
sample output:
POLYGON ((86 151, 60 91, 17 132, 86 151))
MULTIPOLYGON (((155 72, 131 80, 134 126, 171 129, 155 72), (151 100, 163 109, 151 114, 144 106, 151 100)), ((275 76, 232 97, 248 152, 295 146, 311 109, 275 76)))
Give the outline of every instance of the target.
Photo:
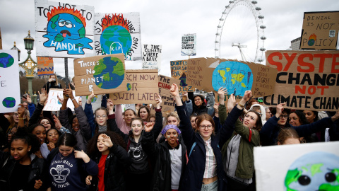
POLYGON ((131 50, 132 37, 126 28, 112 25, 102 31, 100 45, 104 54, 126 54, 131 50))

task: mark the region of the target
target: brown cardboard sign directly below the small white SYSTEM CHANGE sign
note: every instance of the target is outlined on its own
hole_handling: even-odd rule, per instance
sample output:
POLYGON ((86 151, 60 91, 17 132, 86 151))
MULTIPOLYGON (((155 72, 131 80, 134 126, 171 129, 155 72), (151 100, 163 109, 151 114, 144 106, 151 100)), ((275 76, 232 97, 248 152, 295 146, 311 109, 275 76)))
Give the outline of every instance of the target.
POLYGON ((194 88, 186 83, 187 60, 171 61, 171 74, 172 78, 180 80, 179 92, 194 91, 194 88))

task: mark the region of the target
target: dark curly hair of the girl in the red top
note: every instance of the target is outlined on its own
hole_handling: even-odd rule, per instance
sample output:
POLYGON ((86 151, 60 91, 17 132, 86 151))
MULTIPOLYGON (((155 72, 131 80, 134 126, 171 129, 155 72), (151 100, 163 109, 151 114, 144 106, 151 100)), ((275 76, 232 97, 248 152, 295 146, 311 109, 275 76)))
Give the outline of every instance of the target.
POLYGON ((100 134, 107 134, 107 136, 111 138, 111 141, 113 144, 120 145, 124 149, 127 148, 127 145, 124 139, 122 139, 122 137, 116 132, 111 132, 111 131, 98 132, 92 137, 92 139, 90 139, 90 141, 88 141, 88 144, 87 144, 87 153, 88 153, 88 156, 90 156, 91 158, 101 155, 101 152, 99 151, 99 149, 97 149, 97 138, 100 136, 100 134))

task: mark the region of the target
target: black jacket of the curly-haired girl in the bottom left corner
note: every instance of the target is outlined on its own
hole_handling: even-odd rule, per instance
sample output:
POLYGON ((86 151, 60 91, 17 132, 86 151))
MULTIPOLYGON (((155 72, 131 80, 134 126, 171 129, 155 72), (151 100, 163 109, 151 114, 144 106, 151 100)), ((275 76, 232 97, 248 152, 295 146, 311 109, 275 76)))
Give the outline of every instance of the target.
MULTIPOLYGON (((30 175, 27 179, 27 190, 35 190, 35 180, 41 180, 42 186, 38 190, 47 189, 47 167, 43 158, 37 158, 34 154, 31 158, 31 170, 30 175)), ((11 190, 11 173, 13 172, 14 166, 18 161, 14 160, 13 156, 9 153, 0 151, 0 190, 11 190)))

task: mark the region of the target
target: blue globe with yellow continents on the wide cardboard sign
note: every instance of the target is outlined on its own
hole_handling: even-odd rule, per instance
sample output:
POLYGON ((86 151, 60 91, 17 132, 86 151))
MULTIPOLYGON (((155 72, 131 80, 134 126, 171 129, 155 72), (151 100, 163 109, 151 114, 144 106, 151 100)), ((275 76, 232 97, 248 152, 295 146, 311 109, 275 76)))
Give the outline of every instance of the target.
POLYGON ((246 90, 251 90, 253 73, 247 64, 242 62, 221 62, 213 71, 212 86, 215 91, 219 88, 227 88, 228 94, 243 96, 246 90))

